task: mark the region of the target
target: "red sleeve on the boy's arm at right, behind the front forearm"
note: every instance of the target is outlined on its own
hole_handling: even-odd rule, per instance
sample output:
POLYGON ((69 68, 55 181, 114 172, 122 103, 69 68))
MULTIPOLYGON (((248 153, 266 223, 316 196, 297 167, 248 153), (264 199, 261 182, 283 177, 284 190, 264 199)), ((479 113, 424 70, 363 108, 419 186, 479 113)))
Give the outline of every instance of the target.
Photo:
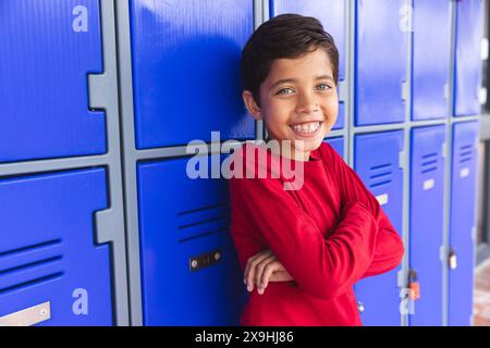
POLYGON ((327 152, 334 163, 333 167, 341 195, 341 204, 350 201, 363 203, 375 217, 378 225, 376 250, 371 263, 362 278, 372 276, 396 268, 402 261, 404 247, 400 235, 394 229, 376 197, 366 188, 359 176, 345 161, 328 145, 327 152))

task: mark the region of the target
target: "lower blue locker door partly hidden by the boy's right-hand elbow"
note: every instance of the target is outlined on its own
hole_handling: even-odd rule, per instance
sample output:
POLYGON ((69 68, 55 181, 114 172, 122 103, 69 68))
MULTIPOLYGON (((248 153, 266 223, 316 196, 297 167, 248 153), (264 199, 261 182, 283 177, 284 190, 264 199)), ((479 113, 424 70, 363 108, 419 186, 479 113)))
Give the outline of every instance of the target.
MULTIPOLYGON (((393 227, 403 227, 403 130, 357 135, 354 139, 354 169, 366 187, 378 198, 393 227)), ((355 286, 357 300, 365 311, 364 325, 400 325, 400 266, 384 274, 367 277, 355 286)))

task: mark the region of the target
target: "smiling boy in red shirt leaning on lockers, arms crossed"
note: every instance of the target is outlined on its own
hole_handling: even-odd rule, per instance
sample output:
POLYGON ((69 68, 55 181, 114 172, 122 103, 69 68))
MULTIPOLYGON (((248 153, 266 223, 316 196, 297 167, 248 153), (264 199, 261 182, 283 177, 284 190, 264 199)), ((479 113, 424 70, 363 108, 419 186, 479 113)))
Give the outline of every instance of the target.
POLYGON ((229 182, 231 234, 250 291, 243 325, 362 325, 353 285, 403 257, 377 199, 322 141, 336 120, 338 72, 334 41, 314 17, 273 17, 243 50, 245 105, 270 141, 286 145, 247 142, 233 153, 252 174, 268 173, 229 182), (271 177, 274 163, 303 167, 302 187, 284 189, 285 171, 271 177))

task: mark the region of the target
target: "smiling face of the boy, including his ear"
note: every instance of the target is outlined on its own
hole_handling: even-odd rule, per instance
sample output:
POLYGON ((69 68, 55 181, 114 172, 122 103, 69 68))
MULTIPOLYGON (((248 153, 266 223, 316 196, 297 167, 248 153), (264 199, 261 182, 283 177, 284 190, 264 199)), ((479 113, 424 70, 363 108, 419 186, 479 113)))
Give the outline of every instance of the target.
POLYGON ((275 60, 260 85, 260 108, 250 92, 243 97, 252 115, 264 120, 271 139, 291 140, 290 154, 283 154, 304 161, 321 145, 339 111, 332 64, 322 49, 275 60))

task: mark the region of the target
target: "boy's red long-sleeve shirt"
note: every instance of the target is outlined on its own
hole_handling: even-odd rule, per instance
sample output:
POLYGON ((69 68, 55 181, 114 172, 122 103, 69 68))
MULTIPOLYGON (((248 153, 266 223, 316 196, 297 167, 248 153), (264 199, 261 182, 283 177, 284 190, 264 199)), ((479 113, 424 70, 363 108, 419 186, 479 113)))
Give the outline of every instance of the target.
POLYGON ((254 289, 241 323, 362 325, 353 285, 394 269, 404 252, 376 197, 327 142, 303 162, 304 182, 296 190, 284 189, 284 183, 301 173, 298 162, 262 146, 245 144, 231 163, 243 175, 229 181, 230 228, 242 270, 248 258, 271 249, 294 278, 270 282, 264 295, 254 289), (247 171, 254 177, 247 178, 247 171))

